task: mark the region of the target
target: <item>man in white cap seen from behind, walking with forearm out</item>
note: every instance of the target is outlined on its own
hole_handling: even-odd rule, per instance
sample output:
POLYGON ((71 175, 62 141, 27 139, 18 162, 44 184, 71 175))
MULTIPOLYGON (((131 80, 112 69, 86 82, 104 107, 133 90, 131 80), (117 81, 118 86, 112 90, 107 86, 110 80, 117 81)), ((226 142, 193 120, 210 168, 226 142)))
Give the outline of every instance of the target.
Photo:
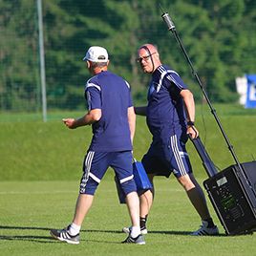
POLYGON ((93 75, 85 86, 88 113, 80 118, 64 118, 70 129, 92 124, 93 139, 83 162, 83 176, 73 222, 64 229, 52 229, 51 235, 69 244, 79 244, 79 231, 96 192, 97 185, 108 167, 112 167, 126 195, 132 228, 123 243, 144 245, 139 227, 139 197, 133 179, 132 143, 136 115, 129 84, 108 71, 106 49, 93 46, 83 58, 93 75))

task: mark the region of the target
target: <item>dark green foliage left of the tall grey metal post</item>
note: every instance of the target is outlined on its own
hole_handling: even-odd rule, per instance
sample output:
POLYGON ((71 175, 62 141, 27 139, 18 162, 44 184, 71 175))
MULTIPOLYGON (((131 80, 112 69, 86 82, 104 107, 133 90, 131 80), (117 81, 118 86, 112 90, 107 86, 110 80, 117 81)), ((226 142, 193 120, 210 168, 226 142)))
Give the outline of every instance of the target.
POLYGON ((0 2, 1 109, 39 109, 35 11, 29 0, 0 2))

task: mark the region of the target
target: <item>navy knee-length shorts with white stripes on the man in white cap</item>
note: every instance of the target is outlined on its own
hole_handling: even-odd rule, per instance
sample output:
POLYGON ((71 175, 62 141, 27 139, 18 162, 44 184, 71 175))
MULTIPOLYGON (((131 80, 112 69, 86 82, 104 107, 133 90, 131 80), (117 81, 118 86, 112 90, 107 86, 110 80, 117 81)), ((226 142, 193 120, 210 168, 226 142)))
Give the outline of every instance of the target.
POLYGON ((115 170, 117 179, 121 184, 126 181, 132 181, 129 190, 137 191, 136 184, 133 180, 132 163, 133 155, 131 151, 88 151, 83 162, 83 176, 80 181, 80 193, 87 194, 87 192, 92 189, 90 185, 94 185, 94 183, 97 185, 103 178, 108 167, 112 167, 115 170))

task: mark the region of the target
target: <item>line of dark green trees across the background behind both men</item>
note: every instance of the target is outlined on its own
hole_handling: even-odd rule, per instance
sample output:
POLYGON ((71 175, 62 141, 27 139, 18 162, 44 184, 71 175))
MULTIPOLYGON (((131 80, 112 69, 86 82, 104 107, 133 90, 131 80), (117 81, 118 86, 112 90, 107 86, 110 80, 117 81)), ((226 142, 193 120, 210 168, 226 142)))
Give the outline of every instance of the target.
MULTIPOLYGON (((48 107, 84 108, 83 86, 90 75, 82 57, 92 45, 107 48, 110 70, 132 87, 135 102, 145 100, 150 75, 136 61, 138 47, 158 46, 193 91, 202 93, 181 48, 161 19, 160 5, 172 17, 181 41, 215 102, 235 102, 235 77, 254 74, 256 3, 253 0, 43 0, 48 107), (160 5, 159 5, 160 3, 160 5)), ((36 0, 0 1, 0 106, 2 110, 40 108, 36 0)))

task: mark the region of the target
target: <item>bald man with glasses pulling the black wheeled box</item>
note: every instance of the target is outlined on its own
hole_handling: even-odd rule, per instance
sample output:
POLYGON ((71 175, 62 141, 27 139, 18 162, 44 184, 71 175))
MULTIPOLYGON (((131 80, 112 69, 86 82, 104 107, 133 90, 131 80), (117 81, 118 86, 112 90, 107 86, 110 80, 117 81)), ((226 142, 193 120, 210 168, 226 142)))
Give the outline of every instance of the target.
MULTIPOLYGON (((188 137, 195 139, 199 136, 194 125, 193 94, 176 71, 161 63, 160 53, 154 45, 145 44, 139 47, 138 62, 145 74, 152 75, 147 106, 135 108, 137 115, 146 117, 153 137, 148 152, 141 160, 149 180, 153 184, 155 176, 169 178, 173 173, 202 220, 200 228, 191 235, 217 235, 218 227, 209 214, 203 190, 192 173, 185 149, 188 137)), ((139 195, 140 228, 141 233, 146 234, 146 222, 153 203, 154 188, 139 191, 139 195)), ((128 233, 129 227, 124 227, 123 231, 128 233)))

